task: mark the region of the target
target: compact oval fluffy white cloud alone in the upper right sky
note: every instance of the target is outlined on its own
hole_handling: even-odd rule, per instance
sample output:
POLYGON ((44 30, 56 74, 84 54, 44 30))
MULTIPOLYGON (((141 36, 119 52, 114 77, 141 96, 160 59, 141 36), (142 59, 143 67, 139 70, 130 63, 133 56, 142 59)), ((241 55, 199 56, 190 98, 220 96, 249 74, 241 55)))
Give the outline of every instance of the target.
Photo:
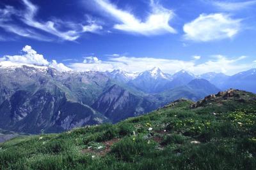
POLYGON ((241 30, 241 20, 232 19, 223 13, 201 14, 184 25, 185 39, 193 41, 212 41, 232 38, 241 30))

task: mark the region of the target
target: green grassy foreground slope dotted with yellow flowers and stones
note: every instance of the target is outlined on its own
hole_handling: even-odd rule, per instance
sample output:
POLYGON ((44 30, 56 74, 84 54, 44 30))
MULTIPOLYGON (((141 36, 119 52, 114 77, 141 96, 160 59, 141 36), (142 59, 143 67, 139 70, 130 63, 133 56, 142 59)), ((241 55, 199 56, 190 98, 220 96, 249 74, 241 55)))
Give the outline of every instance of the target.
POLYGON ((244 100, 179 101, 115 125, 15 138, 0 145, 0 169, 255 169, 255 96, 236 93, 244 100))

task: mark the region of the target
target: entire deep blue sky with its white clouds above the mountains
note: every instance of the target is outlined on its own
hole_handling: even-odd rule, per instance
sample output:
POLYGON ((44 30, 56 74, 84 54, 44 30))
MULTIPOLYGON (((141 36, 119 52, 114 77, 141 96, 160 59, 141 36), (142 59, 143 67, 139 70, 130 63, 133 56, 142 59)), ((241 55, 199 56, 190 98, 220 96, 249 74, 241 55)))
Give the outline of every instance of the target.
POLYGON ((255 7, 255 0, 1 0, 0 60, 234 74, 256 66, 255 7))

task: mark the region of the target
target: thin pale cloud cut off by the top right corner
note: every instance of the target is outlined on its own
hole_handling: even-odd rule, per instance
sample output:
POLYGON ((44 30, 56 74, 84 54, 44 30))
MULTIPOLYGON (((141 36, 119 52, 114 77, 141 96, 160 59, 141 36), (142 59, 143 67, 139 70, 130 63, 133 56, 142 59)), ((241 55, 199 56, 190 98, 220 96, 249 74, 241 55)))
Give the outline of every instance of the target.
POLYGON ((243 2, 230 2, 230 1, 211 1, 211 3, 220 8, 220 10, 225 11, 237 11, 237 10, 244 10, 250 6, 256 4, 256 1, 243 1, 243 2))

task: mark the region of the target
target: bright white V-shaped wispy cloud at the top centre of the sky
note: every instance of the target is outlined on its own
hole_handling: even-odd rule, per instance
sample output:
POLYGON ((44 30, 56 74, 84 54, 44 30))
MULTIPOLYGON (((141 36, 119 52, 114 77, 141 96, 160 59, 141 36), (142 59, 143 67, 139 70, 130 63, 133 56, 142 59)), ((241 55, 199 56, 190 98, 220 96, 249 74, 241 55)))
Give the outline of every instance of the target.
POLYGON ((115 20, 118 20, 122 24, 115 24, 114 28, 143 35, 154 35, 163 34, 164 32, 175 33, 169 22, 173 18, 173 11, 168 10, 158 3, 154 3, 153 0, 150 1, 150 7, 152 8, 152 13, 150 13, 143 22, 139 18, 136 18, 132 13, 118 9, 117 6, 111 4, 108 0, 94 0, 99 4, 100 8, 106 13, 111 15, 115 20))

